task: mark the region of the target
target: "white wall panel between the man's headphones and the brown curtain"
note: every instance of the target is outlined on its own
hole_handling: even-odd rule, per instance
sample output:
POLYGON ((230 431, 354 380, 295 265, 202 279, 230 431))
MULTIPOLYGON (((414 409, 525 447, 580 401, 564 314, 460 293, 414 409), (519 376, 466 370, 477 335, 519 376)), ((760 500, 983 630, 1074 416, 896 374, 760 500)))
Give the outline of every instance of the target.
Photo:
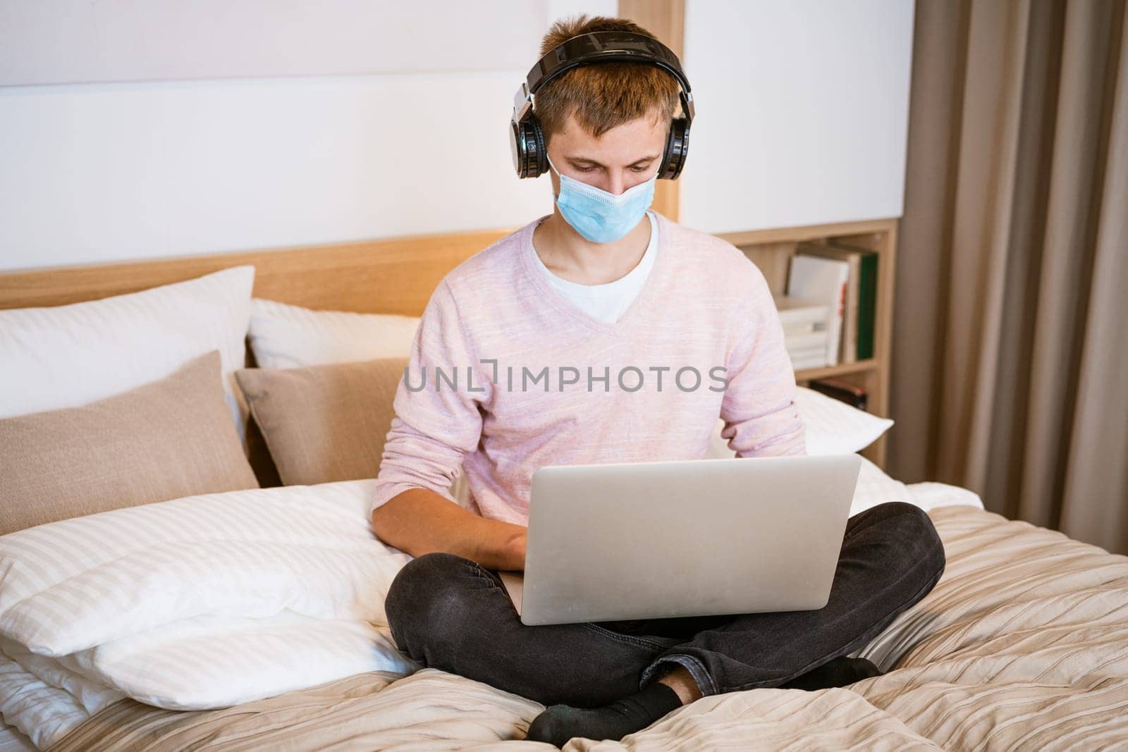
POLYGON ((913 11, 913 0, 687 0, 697 117, 682 223, 900 216, 913 11))

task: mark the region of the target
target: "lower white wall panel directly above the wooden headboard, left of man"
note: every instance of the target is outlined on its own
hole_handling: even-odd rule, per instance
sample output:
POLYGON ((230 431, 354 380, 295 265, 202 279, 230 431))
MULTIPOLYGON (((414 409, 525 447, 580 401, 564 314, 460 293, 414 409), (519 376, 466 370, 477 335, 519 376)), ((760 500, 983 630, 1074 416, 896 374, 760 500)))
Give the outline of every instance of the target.
POLYGON ((0 89, 0 268, 523 224, 521 76, 0 89))

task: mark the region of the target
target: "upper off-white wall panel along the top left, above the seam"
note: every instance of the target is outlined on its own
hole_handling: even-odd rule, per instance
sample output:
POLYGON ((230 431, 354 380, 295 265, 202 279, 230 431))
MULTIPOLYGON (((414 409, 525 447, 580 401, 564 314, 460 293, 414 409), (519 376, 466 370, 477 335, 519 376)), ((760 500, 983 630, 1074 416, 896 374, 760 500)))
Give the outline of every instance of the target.
POLYGON ((548 0, 0 0, 0 86, 528 67, 548 0))

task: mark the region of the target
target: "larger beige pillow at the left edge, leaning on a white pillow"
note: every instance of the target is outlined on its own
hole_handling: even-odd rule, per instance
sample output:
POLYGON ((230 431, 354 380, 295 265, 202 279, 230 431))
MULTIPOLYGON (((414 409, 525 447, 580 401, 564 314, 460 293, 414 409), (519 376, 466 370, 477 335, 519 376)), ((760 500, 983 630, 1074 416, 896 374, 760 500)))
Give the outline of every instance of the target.
POLYGON ((0 421, 0 534, 182 496, 258 488, 218 350, 81 407, 0 421))

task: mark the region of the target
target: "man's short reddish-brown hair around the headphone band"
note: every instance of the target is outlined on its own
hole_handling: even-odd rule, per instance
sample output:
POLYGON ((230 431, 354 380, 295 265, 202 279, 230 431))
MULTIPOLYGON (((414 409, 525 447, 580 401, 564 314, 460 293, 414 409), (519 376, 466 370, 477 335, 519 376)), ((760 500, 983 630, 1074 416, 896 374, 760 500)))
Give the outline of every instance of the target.
MULTIPOLYGON (((653 34, 625 18, 580 15, 553 24, 540 43, 540 54, 573 36, 591 32, 653 34)), ((540 118, 547 142, 562 130, 569 115, 597 139, 617 125, 653 114, 669 123, 678 112, 677 79, 646 63, 581 65, 550 81, 536 95, 534 112, 540 118)))

